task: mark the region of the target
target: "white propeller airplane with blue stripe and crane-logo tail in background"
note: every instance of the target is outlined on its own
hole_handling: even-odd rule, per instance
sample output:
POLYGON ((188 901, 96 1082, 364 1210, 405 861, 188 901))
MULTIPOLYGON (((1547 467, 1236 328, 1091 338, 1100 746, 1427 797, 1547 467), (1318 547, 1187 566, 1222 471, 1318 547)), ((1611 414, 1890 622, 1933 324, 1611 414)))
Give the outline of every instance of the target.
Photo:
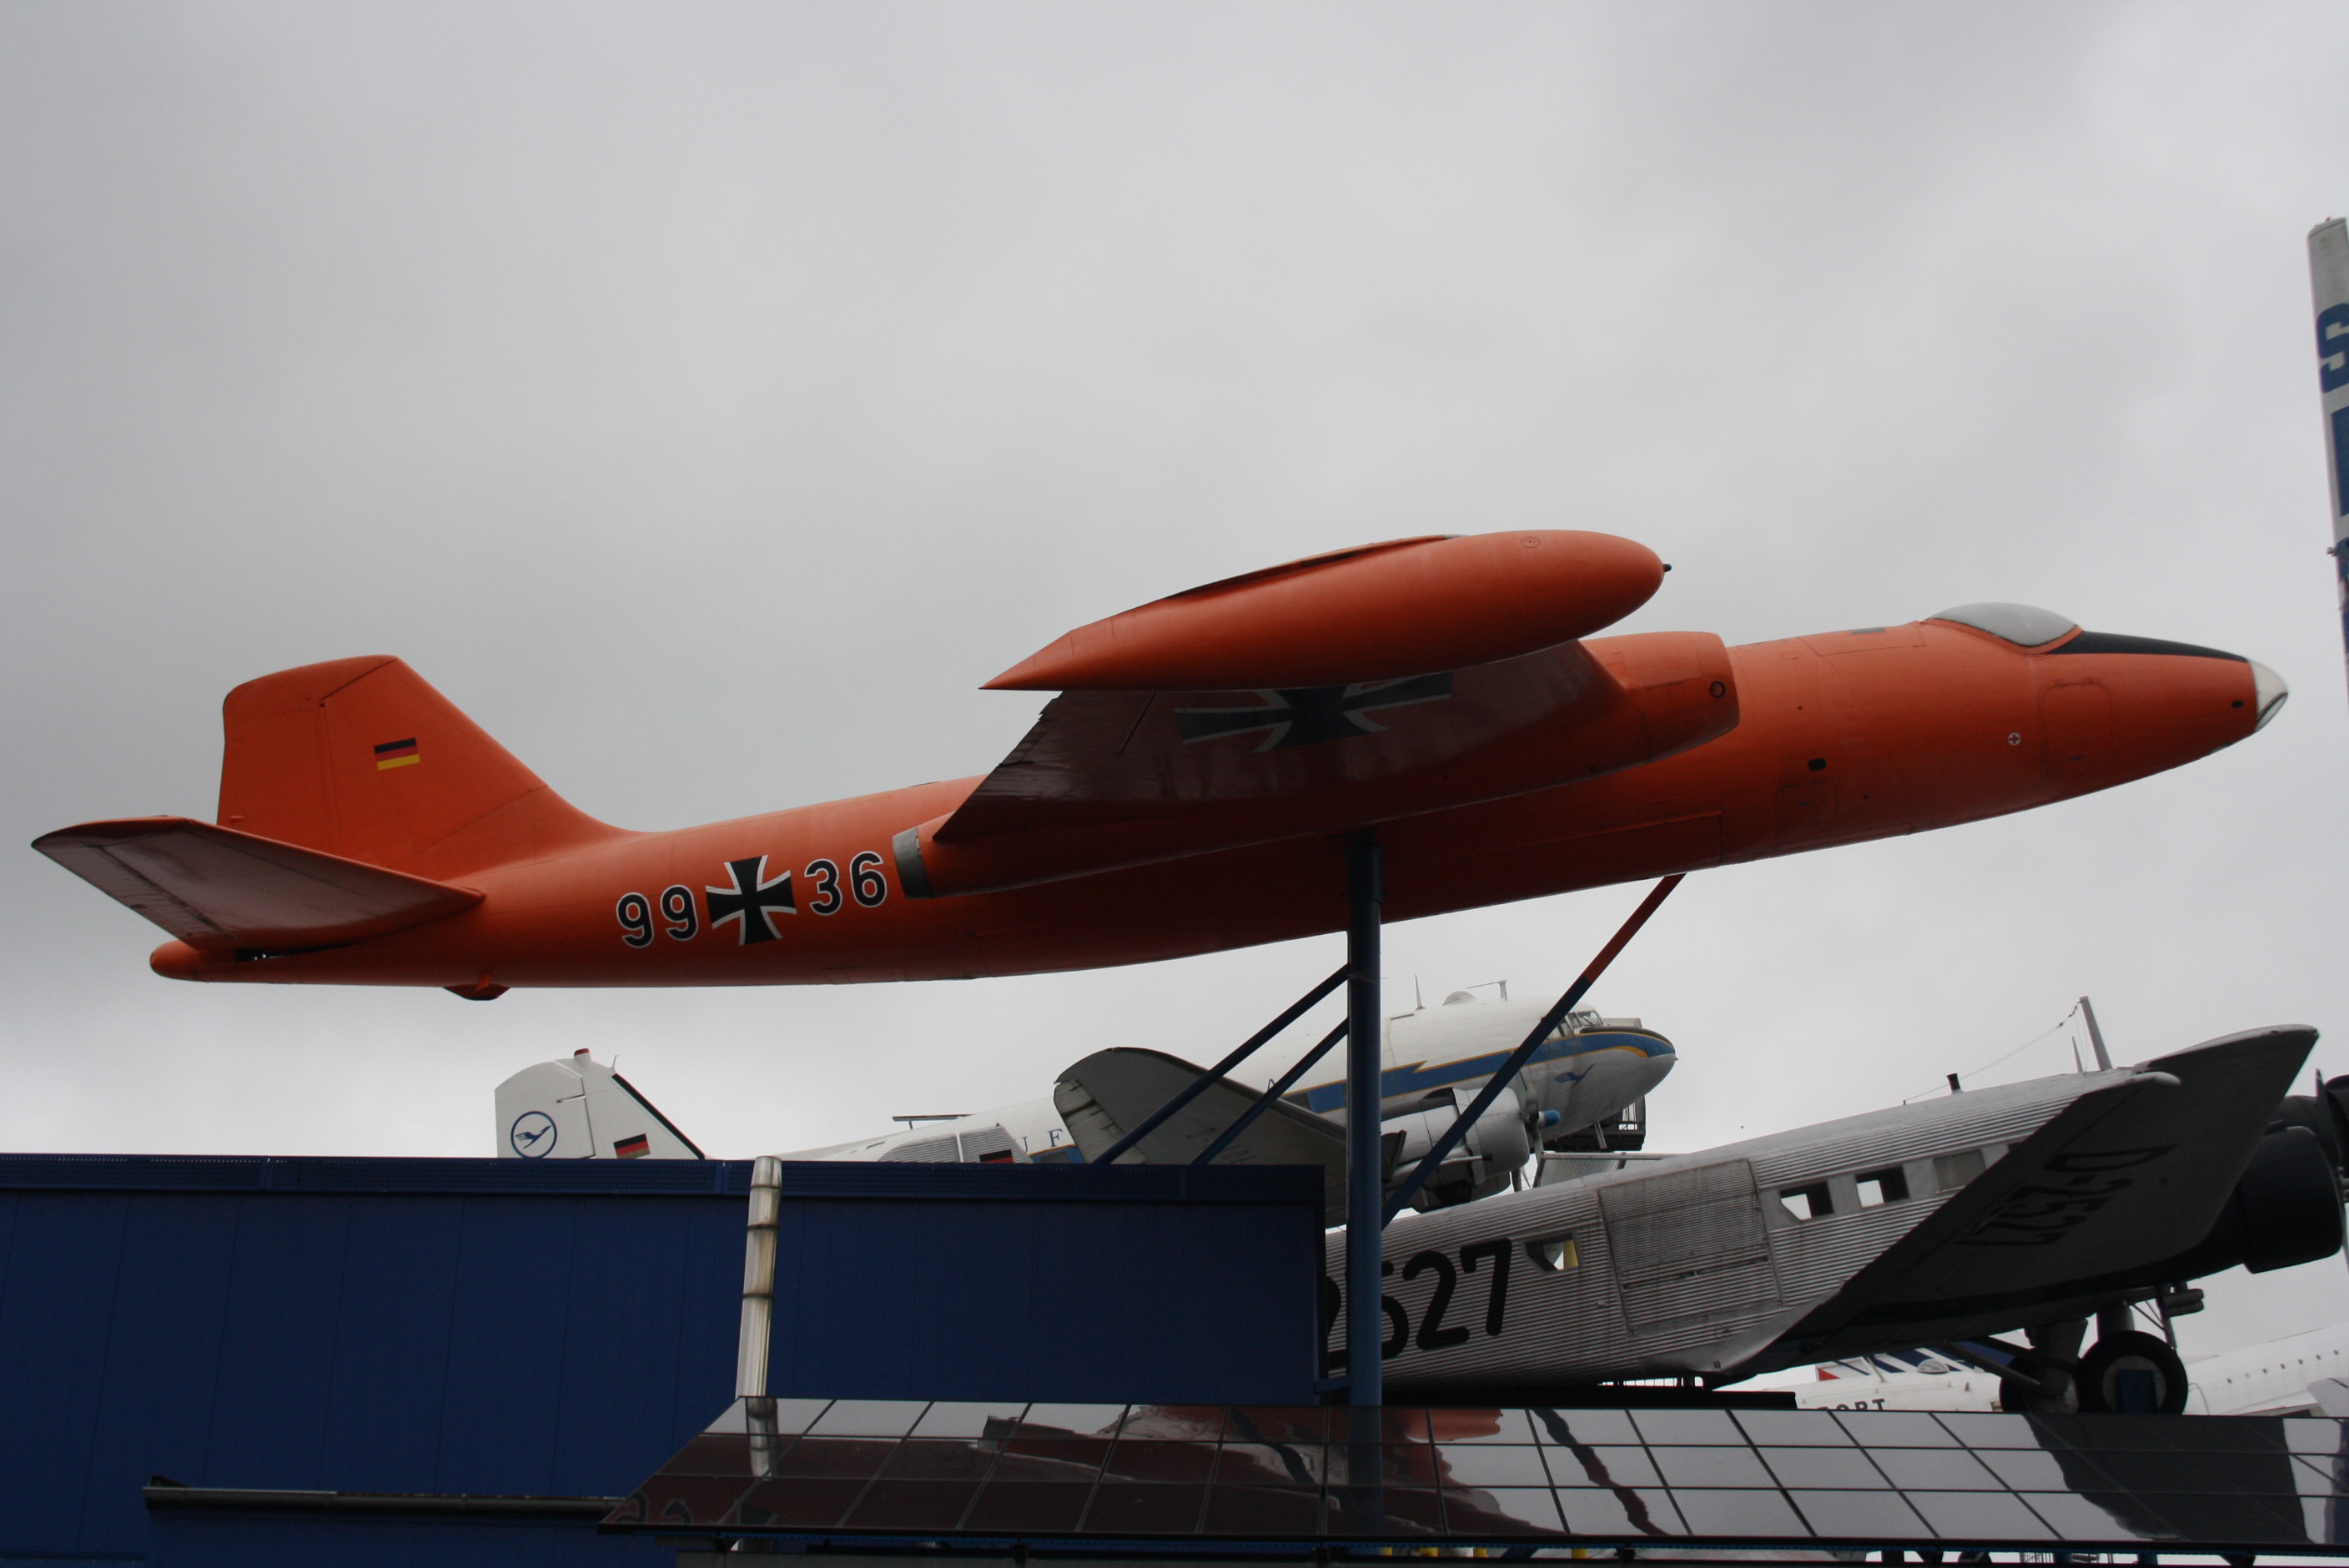
MULTIPOLYGON (((1466 1103, 1492 1077, 1501 1059, 1527 1035, 1548 1009, 1546 1002, 1513 1002, 1501 995, 1480 1000, 1475 991, 1454 991, 1440 1007, 1419 1007, 1386 1021, 1381 1045, 1384 1103, 1381 1122, 1395 1141, 1398 1164, 1423 1153, 1449 1124, 1452 1108, 1466 1103)), ((1203 1145, 1233 1115, 1233 1099, 1254 1099, 1257 1084, 1276 1082, 1308 1052, 1304 1040, 1273 1042, 1247 1066, 1247 1080, 1212 1089, 1196 1103, 1205 1136, 1191 1136, 1186 1122, 1144 1138, 1144 1157, 1174 1157, 1174 1150, 1203 1145)), ((1677 1061, 1672 1042, 1644 1028, 1640 1019, 1602 1019, 1579 1012, 1550 1033, 1517 1080, 1478 1122, 1431 1185, 1423 1207, 1466 1202, 1508 1190, 1534 1148, 1637 1148, 1644 1117, 1626 1117, 1663 1082, 1677 1061)), ((1085 1108, 1123 1096, 1144 1096, 1149 1108, 1193 1082, 1200 1068, 1163 1052, 1095 1052, 1062 1075, 1052 1096, 965 1115, 904 1117, 911 1127, 850 1143, 796 1150, 785 1160, 881 1160, 881 1162, 1083 1162, 1081 1138, 1071 1120, 1085 1122, 1085 1108)), ((1301 1087, 1283 1096, 1280 1113, 1292 1124, 1344 1124, 1346 1087, 1332 1052, 1301 1087)), ((1137 1113, 1139 1115, 1139 1113, 1137 1113)), ((1092 1122, 1099 1122, 1095 1115, 1092 1122)), ((1268 1129, 1271 1131, 1271 1129, 1268 1129)), ((1116 1134, 1085 1138, 1102 1153, 1116 1134)), ((1240 1143, 1233 1162, 1264 1162, 1273 1148, 1240 1143)), ((597 1063, 587 1052, 564 1061, 524 1068, 498 1084, 498 1155, 510 1160, 698 1160, 677 1127, 667 1122, 627 1080, 597 1063)), ((1405 1164, 1407 1169, 1407 1164, 1405 1164)))

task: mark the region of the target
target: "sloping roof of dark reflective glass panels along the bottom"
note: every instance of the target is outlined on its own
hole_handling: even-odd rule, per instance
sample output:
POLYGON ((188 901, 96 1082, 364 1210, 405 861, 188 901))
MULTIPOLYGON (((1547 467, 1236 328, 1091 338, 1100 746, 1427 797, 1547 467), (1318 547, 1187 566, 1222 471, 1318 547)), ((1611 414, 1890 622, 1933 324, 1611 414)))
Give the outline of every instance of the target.
POLYGON ((801 1545, 1959 1545, 2349 1556, 2344 1422, 749 1399, 606 1528, 801 1545), (1355 1439, 1367 1441, 1355 1441, 1355 1439))

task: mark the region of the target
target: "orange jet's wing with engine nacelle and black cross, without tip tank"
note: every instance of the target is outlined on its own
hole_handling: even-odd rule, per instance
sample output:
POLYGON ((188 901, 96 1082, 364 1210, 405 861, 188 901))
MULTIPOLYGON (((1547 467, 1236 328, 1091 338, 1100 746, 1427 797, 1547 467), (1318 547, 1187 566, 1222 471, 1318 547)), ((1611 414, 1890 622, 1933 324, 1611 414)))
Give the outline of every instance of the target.
POLYGON ((1731 725, 1727 650, 1684 631, 1348 685, 1066 690, 895 857, 916 897, 994 892, 1555 789, 1731 725))

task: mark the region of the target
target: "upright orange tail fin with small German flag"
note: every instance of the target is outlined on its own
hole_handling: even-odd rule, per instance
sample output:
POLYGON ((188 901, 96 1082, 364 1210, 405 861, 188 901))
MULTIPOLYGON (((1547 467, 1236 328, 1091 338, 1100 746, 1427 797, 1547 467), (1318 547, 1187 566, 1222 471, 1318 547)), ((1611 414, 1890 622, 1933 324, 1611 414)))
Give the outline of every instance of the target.
POLYGON ((618 833, 385 655, 247 681, 221 718, 223 829, 430 878, 618 833))

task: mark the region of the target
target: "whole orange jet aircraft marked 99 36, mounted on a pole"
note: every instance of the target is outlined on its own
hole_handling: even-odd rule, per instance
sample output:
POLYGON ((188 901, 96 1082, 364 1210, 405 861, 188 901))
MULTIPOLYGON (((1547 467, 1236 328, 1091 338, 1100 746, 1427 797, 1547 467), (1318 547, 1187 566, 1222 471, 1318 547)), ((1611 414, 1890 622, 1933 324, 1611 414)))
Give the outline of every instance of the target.
POLYGON ((1593 638, 1668 568, 1600 533, 1367 545, 1081 627, 980 779, 674 833, 580 815, 392 657, 240 685, 216 822, 35 847, 197 981, 770 986, 1130 965, 1889 838, 2229 746, 2286 685, 2025 606, 1724 648, 1593 638))

